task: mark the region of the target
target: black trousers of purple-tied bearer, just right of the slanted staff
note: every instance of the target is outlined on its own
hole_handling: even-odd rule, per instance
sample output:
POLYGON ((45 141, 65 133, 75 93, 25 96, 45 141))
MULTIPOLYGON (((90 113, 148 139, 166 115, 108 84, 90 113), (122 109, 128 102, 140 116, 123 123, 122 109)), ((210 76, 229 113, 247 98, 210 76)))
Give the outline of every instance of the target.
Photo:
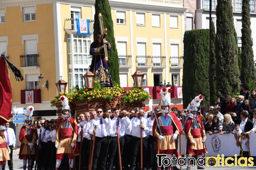
POLYGON ((106 170, 108 144, 109 144, 109 137, 95 138, 92 170, 96 170, 96 169, 106 170), (99 159, 99 162, 98 162, 98 159, 99 159))

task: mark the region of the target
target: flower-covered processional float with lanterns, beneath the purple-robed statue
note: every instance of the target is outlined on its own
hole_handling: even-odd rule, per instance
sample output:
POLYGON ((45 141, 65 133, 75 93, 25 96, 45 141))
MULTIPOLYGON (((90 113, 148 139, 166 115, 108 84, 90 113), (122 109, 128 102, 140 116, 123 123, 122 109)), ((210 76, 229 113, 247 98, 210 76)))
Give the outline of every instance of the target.
POLYGON ((142 88, 143 76, 140 71, 136 71, 132 78, 134 80, 133 88, 125 90, 118 84, 113 87, 100 86, 100 82, 95 78, 92 72, 84 74, 84 86, 79 88, 75 86, 70 93, 66 92, 67 82, 59 80, 56 83, 59 94, 54 96, 51 106, 57 107, 58 118, 61 117, 62 104, 60 96, 68 98, 72 116, 79 115, 86 111, 118 107, 120 110, 145 108, 145 101, 150 98, 147 91, 142 88))

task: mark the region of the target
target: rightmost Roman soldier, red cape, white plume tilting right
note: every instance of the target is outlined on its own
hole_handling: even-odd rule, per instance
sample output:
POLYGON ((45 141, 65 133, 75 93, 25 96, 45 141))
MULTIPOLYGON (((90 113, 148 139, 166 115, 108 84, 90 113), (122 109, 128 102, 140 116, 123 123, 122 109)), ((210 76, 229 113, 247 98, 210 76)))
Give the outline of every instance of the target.
MULTIPOLYGON (((206 140, 206 134, 204 125, 202 125, 202 115, 196 115, 198 111, 197 107, 200 106, 200 102, 202 100, 202 95, 196 96, 187 108, 190 114, 185 123, 184 131, 187 136, 186 155, 188 155, 188 157, 196 154, 199 158, 203 156, 204 153, 207 153, 206 145, 204 143, 206 140)), ((190 166, 188 166, 187 169, 190 169, 190 166)), ((198 169, 204 169, 204 167, 198 166, 198 169)))

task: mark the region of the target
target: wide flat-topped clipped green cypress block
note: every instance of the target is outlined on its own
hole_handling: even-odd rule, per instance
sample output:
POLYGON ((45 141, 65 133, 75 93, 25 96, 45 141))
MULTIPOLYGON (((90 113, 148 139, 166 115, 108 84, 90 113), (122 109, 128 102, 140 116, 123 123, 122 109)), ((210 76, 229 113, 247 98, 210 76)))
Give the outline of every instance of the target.
POLYGON ((209 29, 186 31, 183 43, 183 107, 199 94, 204 96, 202 104, 209 106, 209 29))

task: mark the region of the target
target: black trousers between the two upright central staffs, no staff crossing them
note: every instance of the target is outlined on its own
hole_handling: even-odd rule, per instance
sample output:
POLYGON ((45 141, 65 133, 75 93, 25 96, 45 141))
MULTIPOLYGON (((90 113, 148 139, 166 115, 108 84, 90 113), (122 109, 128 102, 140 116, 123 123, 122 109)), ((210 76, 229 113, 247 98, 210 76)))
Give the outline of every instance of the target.
POLYGON ((132 135, 125 135, 124 137, 124 150, 123 150, 123 162, 122 166, 125 169, 128 169, 128 165, 130 163, 130 157, 131 157, 131 149, 132 149, 132 135))

